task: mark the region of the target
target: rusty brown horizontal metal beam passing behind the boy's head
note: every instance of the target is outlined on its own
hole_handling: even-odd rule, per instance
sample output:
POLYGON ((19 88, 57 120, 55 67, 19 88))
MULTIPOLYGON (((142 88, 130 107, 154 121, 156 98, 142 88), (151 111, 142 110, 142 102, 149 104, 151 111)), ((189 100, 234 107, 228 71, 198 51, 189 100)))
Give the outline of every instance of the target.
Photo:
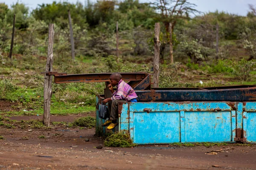
MULTIPOLYGON (((112 73, 94 73, 94 74, 67 74, 55 75, 55 83, 69 82, 108 82, 112 73)), ((124 81, 143 80, 147 73, 120 73, 124 81)))

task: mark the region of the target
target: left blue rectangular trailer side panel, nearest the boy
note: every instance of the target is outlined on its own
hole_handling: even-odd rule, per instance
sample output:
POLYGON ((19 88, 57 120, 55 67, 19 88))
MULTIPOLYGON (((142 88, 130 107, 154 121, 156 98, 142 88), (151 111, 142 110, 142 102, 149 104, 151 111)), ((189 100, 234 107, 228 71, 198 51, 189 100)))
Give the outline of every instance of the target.
POLYGON ((134 112, 133 120, 134 143, 180 142, 179 112, 134 112))

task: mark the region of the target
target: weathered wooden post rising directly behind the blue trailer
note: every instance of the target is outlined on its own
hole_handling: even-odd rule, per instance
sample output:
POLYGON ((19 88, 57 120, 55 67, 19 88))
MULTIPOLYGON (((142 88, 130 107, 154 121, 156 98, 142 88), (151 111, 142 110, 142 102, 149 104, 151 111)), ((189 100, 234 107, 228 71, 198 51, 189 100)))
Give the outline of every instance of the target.
POLYGON ((160 23, 155 23, 155 36, 154 36, 154 63, 153 63, 153 88, 158 88, 159 86, 159 59, 160 59, 160 46, 161 42, 159 40, 160 34, 160 23))

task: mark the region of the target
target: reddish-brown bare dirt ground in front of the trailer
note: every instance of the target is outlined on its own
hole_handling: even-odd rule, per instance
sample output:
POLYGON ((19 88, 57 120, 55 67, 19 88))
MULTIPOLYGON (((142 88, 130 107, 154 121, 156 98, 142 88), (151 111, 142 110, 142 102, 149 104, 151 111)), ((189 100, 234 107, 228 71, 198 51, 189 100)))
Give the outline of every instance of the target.
MULTIPOLYGON (((78 116, 51 116, 51 121, 72 122, 78 116)), ((11 117, 35 119, 42 116, 11 117)), ((256 169, 256 145, 215 147, 171 147, 169 145, 133 148, 104 147, 93 129, 3 128, 0 126, 0 169, 3 170, 244 170, 256 169), (69 131, 68 131, 69 130, 69 131), (45 139, 38 136, 44 135, 45 139), (85 140, 89 139, 89 142, 85 140), (102 145, 102 149, 96 146, 102 145), (217 155, 208 151, 229 149, 217 155), (214 167, 215 166, 215 167, 214 167)))

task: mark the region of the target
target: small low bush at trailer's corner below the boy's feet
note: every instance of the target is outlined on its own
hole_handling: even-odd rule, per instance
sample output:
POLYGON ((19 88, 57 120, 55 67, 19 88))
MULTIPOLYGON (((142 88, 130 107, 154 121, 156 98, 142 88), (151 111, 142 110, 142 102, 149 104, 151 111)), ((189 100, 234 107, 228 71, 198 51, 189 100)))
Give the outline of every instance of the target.
POLYGON ((115 132, 108 136, 104 144, 106 147, 134 147, 134 144, 130 138, 130 134, 125 131, 115 132))

